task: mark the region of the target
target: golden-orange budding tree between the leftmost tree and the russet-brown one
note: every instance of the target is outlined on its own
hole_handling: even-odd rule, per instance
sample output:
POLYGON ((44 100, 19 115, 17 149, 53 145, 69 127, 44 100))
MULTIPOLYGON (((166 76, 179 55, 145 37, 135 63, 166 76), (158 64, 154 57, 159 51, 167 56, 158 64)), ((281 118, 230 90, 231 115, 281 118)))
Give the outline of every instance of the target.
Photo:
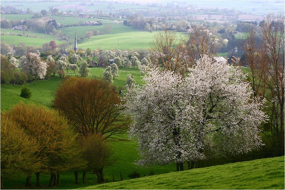
POLYGON ((40 173, 55 175, 72 167, 73 155, 78 150, 73 147, 76 134, 68 120, 59 112, 35 104, 20 103, 3 115, 5 114, 16 122, 25 134, 34 138, 39 147, 35 153, 38 165, 34 171, 27 173, 27 186, 31 186, 33 173, 37 177, 37 187, 40 187, 40 173))

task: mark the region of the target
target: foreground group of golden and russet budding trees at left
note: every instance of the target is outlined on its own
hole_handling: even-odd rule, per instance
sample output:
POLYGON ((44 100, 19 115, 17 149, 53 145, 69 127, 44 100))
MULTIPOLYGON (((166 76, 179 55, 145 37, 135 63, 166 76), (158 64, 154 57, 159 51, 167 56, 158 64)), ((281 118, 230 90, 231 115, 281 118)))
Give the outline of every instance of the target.
POLYGON ((93 171, 104 182, 103 168, 114 163, 109 141, 123 140, 130 118, 115 86, 98 79, 71 77, 57 89, 49 110, 34 104, 13 106, 1 113, 1 188, 3 180, 40 173, 50 174, 49 187, 59 184, 60 173, 93 171), (21 117, 19 117, 19 115, 21 117), (20 140, 20 141, 19 141, 20 140), (16 172, 15 172, 16 171, 16 172))

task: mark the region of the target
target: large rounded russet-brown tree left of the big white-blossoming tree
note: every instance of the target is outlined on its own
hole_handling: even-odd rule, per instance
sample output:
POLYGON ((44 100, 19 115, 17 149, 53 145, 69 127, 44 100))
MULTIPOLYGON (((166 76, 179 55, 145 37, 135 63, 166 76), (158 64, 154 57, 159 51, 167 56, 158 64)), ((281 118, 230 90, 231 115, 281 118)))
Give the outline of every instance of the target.
MULTIPOLYGON (((124 108, 116 87, 98 79, 71 77, 55 92, 52 107, 62 111, 82 138, 90 134, 101 136, 102 141, 124 140, 130 119, 120 115, 124 108)), ((102 176, 103 166, 96 174, 102 176)))

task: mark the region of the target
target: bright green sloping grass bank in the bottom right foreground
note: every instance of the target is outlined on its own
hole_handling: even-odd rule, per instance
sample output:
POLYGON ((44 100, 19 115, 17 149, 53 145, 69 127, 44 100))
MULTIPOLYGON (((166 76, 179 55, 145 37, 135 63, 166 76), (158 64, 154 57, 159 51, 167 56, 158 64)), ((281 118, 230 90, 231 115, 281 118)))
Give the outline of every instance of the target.
POLYGON ((171 172, 80 189, 284 189, 284 156, 171 172))

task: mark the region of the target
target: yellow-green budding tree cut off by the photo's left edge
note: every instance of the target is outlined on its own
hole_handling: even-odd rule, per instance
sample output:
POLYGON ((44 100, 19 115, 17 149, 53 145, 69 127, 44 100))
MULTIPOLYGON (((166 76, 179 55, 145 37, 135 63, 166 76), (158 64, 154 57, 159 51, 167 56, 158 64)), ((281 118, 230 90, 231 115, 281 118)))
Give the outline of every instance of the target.
POLYGON ((27 135, 7 114, 1 113, 1 189, 3 180, 31 175, 37 168, 35 138, 27 135))

